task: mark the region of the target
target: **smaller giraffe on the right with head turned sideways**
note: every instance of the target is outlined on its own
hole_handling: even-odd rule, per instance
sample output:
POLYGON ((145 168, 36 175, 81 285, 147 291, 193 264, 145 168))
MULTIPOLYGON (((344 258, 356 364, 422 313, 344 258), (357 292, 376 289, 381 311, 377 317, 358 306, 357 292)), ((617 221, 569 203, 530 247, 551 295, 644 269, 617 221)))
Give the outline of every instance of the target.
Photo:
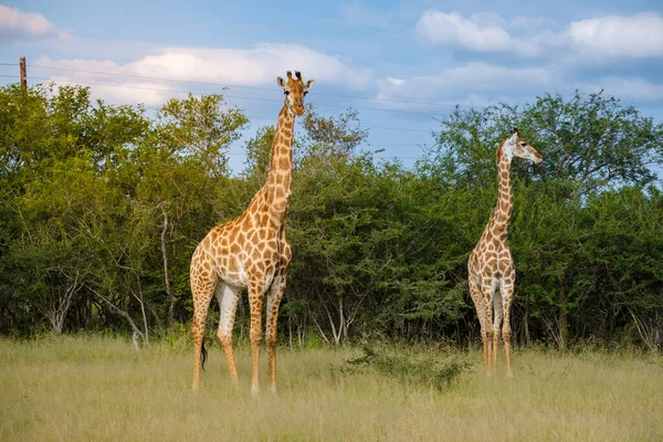
POLYGON ((497 147, 499 167, 499 197, 491 213, 488 224, 481 235, 478 244, 470 254, 467 262, 470 294, 476 308, 481 325, 484 348, 484 366, 492 373, 497 365, 497 339, 504 319, 504 350, 506 354, 506 375, 513 378, 511 366, 511 305, 516 282, 516 271, 508 248, 507 229, 513 208, 511 185, 511 164, 514 157, 529 159, 540 164, 544 158, 513 129, 497 147), (497 292, 497 290, 499 290, 497 292), (496 295, 496 296, 494 296, 496 295), (493 317, 494 309, 494 317, 493 317))

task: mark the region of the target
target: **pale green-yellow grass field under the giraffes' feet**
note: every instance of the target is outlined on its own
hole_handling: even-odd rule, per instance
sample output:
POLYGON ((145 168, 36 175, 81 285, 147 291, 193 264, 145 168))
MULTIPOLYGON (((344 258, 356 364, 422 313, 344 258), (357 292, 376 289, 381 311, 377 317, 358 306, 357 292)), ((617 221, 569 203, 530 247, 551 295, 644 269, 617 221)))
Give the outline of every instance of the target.
POLYGON ((263 393, 252 398, 249 349, 236 351, 239 389, 228 382, 218 345, 210 350, 194 393, 192 356, 181 347, 137 352, 118 338, 0 340, 0 440, 663 440, 663 360, 654 356, 516 351, 509 380, 486 377, 478 352, 452 351, 474 368, 440 391, 340 370, 359 350, 281 348, 278 396, 269 393, 263 367, 263 393))

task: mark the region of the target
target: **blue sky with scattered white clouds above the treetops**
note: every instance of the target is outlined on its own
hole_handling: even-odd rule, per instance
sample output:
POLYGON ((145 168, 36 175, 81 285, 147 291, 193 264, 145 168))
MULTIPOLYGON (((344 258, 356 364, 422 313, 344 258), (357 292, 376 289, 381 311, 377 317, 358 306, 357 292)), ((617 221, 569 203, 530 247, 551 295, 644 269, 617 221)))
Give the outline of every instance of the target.
MULTIPOLYGON (((112 103, 156 107, 187 91, 220 92, 140 76, 236 86, 225 95, 252 119, 245 138, 276 120, 275 77, 301 70, 316 80, 307 98, 320 114, 359 109, 365 148, 406 165, 454 104, 604 88, 663 117, 660 1, 0 2, 0 63, 21 55, 30 83, 113 84, 91 86, 112 103)), ((232 147, 235 170, 242 145, 232 147)))

